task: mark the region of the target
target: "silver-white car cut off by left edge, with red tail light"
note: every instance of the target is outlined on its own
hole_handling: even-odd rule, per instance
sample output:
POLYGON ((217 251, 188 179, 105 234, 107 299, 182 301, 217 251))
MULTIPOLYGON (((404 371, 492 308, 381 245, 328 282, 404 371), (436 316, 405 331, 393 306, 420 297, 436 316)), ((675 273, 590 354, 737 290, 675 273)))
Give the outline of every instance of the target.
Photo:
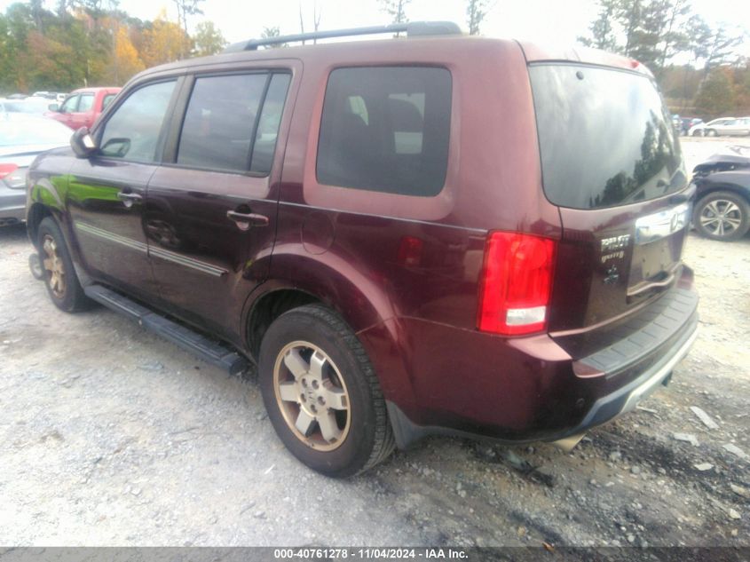
POLYGON ((26 217, 26 175, 38 154, 69 146, 70 130, 44 119, 0 113, 0 226, 26 217))

